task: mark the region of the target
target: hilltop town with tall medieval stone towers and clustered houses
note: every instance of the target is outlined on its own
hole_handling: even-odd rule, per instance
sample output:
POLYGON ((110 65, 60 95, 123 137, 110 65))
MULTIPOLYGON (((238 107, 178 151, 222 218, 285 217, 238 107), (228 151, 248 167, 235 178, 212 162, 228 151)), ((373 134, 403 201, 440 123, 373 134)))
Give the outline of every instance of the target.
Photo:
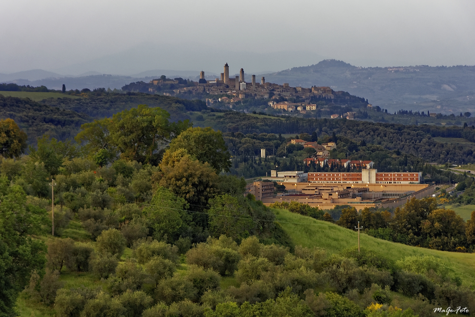
MULTIPOLYGON (((242 104, 245 99, 260 99, 262 100, 260 102, 262 106, 282 112, 299 114, 315 112, 319 110, 319 106, 322 108, 320 110, 332 112, 333 109, 324 106, 333 104, 357 104, 358 107, 371 107, 371 104, 368 104, 368 101, 364 98, 352 96, 341 90, 334 91, 329 86, 291 87, 288 83, 278 85, 266 82, 265 77, 261 77, 260 82, 257 82, 256 75, 252 75, 250 79, 250 81, 246 81, 243 68, 240 69, 238 76, 229 77, 229 66, 226 63, 220 78, 207 80, 204 71, 200 72, 198 82, 187 81, 182 78, 170 79, 162 76, 160 79, 153 79, 149 82, 148 93, 158 94, 163 91, 162 94, 166 96, 191 95, 203 99, 206 97, 205 100, 208 106, 216 107, 218 103, 221 103, 230 108, 233 108, 233 105, 242 104), (164 88, 168 89, 164 90, 164 88), (270 101, 264 101, 266 99, 270 99, 270 101)), ((134 85, 139 84, 135 83, 134 85)), ((147 84, 143 83, 143 85, 147 84)), ((132 86, 128 88, 132 88, 132 86)), ((340 109, 336 110, 339 113, 337 116, 340 117, 342 111, 340 109)), ((347 110, 351 111, 352 109, 347 110)))

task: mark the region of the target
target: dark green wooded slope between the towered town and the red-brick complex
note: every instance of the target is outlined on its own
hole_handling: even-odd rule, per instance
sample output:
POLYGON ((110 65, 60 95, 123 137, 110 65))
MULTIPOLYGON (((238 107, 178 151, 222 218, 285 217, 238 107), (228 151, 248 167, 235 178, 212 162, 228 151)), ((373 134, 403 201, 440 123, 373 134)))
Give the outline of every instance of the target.
MULTIPOLYGON (((337 135, 342 142, 342 147, 337 147, 335 156, 332 158, 372 159, 374 162, 382 162, 392 156, 388 151, 407 154, 426 162, 444 163, 451 162, 468 163, 474 162, 474 151, 470 146, 461 146, 450 143, 436 142, 434 137, 465 138, 470 142, 475 141, 473 127, 443 127, 434 125, 396 125, 371 123, 365 121, 346 119, 303 119, 303 118, 276 118, 265 115, 246 115, 237 112, 223 114, 209 113, 203 116, 205 121, 194 121, 200 126, 211 125, 228 135, 229 133, 241 133, 239 138, 246 138, 248 145, 238 145, 232 150, 252 150, 257 155, 259 146, 266 148, 268 153, 273 153, 284 140, 268 144, 256 144, 248 139, 259 139, 259 134, 315 134, 316 138, 325 135, 337 135), (253 145, 255 144, 255 145, 253 145), (361 149, 369 153, 358 154, 361 149), (378 154, 380 153, 380 154, 378 154), (385 154, 383 154, 385 153, 385 154), (379 155, 382 155, 378 157, 379 155), (366 156, 366 158, 365 158, 366 156), (368 157, 370 156, 370 157, 368 157)), ((266 136, 263 136, 266 138, 266 136)), ((275 139, 277 136, 274 136, 275 139)), ((234 142, 233 144, 237 144, 234 142)), ((277 153, 277 152, 275 152, 277 153)), ((397 154, 399 156, 399 154, 397 154)), ((287 156, 285 153, 280 156, 287 156)))

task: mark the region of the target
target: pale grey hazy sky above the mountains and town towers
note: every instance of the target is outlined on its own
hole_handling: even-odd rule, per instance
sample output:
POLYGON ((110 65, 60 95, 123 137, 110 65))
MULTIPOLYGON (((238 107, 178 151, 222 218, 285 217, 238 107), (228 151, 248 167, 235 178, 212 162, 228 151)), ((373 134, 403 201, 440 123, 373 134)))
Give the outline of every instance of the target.
POLYGON ((2 0, 0 43, 1 73, 475 65, 475 1, 2 0))

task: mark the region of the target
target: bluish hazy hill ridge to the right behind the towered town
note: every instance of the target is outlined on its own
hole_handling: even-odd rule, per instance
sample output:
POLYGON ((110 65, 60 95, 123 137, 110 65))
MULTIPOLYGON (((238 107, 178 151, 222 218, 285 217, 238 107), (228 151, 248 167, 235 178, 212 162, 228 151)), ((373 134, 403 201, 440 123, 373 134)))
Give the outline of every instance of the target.
POLYGON ((475 110, 475 66, 356 67, 325 59, 263 76, 266 81, 290 86, 331 86, 365 96, 373 105, 390 111, 404 108, 458 114, 475 110))

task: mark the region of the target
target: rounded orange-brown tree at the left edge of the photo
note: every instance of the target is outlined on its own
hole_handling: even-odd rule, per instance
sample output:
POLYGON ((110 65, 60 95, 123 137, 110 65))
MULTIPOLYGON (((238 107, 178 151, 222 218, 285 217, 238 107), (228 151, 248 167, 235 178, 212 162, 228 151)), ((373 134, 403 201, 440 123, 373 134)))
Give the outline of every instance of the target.
POLYGON ((25 152, 28 136, 10 118, 0 119, 0 155, 17 157, 25 152))

